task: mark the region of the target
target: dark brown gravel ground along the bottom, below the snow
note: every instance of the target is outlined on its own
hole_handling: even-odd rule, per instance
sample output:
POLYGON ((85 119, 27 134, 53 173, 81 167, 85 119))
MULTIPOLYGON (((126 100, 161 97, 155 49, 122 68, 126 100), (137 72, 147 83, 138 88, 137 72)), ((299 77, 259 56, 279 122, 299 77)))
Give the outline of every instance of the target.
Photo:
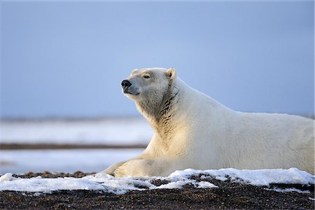
MULTIPOLYGON (((27 173, 15 177, 83 177, 87 174, 27 173)), ((192 177, 191 179, 200 179, 192 177)), ((155 184, 162 184, 156 180, 155 184)), ((0 191, 0 209, 314 209, 314 186, 286 186, 311 193, 279 193, 263 187, 230 181, 211 180, 218 188, 158 189, 132 191, 124 195, 89 191, 62 190, 51 194, 0 191)), ((276 186, 283 187, 283 186, 276 186)))

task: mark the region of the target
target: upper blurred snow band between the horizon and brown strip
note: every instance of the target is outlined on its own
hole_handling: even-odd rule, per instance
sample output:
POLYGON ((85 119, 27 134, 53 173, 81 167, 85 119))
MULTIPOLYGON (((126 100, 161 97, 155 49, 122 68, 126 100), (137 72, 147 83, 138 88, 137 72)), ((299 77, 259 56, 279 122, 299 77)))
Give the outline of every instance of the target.
POLYGON ((144 118, 0 121, 0 142, 11 144, 146 145, 152 135, 144 118))

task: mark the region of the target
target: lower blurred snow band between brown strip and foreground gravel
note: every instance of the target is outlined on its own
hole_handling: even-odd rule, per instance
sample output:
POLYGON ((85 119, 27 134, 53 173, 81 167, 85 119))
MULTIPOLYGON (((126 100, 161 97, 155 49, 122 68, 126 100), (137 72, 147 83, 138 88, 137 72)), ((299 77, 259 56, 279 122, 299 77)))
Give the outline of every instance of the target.
POLYGON ((8 172, 100 172, 144 149, 78 149, 0 151, 0 174, 8 172))

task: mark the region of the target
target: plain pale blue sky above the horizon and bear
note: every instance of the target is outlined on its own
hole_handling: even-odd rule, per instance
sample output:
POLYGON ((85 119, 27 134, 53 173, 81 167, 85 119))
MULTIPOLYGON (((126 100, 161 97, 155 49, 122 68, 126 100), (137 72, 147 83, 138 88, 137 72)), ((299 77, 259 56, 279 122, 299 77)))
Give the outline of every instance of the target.
POLYGON ((314 113, 314 2, 1 2, 1 116, 138 115, 120 82, 173 66, 237 111, 314 113))

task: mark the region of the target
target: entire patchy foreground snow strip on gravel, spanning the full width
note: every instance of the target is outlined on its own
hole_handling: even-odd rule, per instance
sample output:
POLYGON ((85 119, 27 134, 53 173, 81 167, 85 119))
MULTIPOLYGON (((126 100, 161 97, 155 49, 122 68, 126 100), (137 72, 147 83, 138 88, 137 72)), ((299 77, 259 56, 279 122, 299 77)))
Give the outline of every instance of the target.
MULTIPOLYGON (((107 174, 95 174, 76 178, 42 179, 40 176, 31 179, 14 178, 8 173, 0 177, 0 190, 16 190, 38 193, 50 193, 55 190, 102 190, 107 193, 122 194, 130 190, 148 190, 158 188, 182 188, 190 183, 196 188, 216 188, 209 182, 209 177, 221 181, 231 181, 251 184, 254 186, 269 186, 272 183, 314 185, 314 175, 291 169, 260 169, 260 170, 194 170, 176 171, 168 177, 144 178, 114 178, 107 174), (201 181, 190 179, 191 176, 201 176, 201 181), (208 178, 208 179, 207 179, 208 178), (155 186, 151 181, 161 179, 169 181, 162 186, 155 186)), ((296 189, 295 189, 296 190, 296 189)), ((309 193, 309 191, 300 193, 309 193)))

